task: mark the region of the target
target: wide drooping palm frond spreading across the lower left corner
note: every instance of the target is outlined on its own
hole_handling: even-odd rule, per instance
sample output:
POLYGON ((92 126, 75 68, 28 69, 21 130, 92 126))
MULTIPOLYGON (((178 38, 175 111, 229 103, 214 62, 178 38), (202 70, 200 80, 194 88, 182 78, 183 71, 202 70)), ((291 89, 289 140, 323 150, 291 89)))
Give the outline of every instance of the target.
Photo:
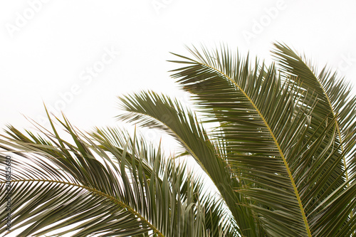
MULTIPOLYGON (((26 226, 19 236, 41 236, 71 224, 76 225, 56 235, 219 236, 220 231, 234 236, 221 201, 201 194, 202 181, 184 164, 164 159, 160 149, 136 137, 125 140, 120 130, 83 135, 66 118, 58 120, 71 144, 50 121, 53 132, 41 130, 42 137, 9 127, 9 136, 1 139, 3 149, 17 154, 11 211, 13 228, 26 226)), ((0 182, 4 190, 5 180, 0 182)), ((0 199, 6 203, 5 192, 0 199)))

